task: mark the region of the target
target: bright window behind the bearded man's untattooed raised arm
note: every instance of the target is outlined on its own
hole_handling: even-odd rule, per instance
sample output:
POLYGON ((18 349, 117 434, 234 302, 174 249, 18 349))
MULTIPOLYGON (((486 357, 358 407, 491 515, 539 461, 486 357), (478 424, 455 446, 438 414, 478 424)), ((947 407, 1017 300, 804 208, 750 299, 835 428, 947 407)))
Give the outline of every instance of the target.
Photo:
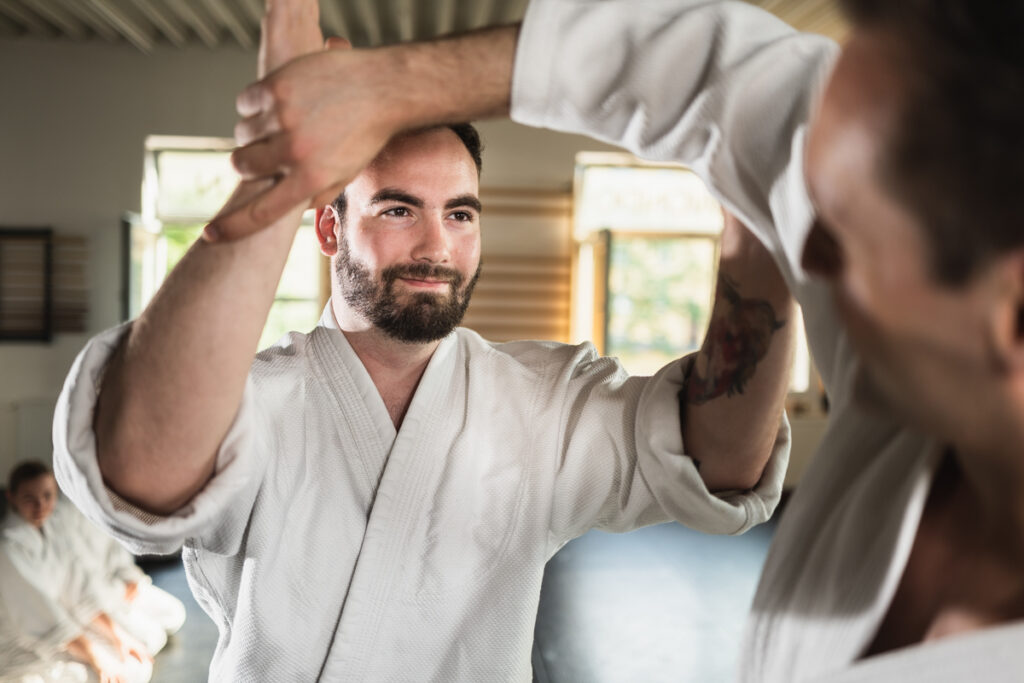
MULTIPOLYGON (((238 182, 230 139, 151 136, 146 139, 142 215, 128 226, 126 313, 135 317, 167 273, 199 239, 206 222, 238 182)), ((263 348, 289 331, 305 332, 319 319, 325 278, 311 211, 292 245, 270 314, 259 341, 263 348)))

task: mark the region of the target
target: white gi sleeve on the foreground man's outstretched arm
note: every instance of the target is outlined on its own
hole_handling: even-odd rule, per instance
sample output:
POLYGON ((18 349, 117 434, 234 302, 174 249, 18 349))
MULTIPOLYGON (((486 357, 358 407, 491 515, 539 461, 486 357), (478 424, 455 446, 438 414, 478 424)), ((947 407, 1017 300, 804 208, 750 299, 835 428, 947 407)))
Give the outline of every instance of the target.
POLYGON ((685 164, 802 281, 804 137, 837 52, 745 2, 535 0, 511 115, 685 164))

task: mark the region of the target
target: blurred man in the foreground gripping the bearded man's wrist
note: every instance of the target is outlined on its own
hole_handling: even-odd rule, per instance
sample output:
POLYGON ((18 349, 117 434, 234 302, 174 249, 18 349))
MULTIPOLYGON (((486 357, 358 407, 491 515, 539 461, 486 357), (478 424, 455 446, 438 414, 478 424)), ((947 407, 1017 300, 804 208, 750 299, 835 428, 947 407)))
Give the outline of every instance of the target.
POLYGON ((425 122, 511 111, 689 165, 775 254, 833 408, 742 678, 1020 680, 1024 2, 843 4, 842 51, 744 2, 534 0, 521 27, 305 56, 239 100, 237 167, 291 181, 208 237, 425 122))

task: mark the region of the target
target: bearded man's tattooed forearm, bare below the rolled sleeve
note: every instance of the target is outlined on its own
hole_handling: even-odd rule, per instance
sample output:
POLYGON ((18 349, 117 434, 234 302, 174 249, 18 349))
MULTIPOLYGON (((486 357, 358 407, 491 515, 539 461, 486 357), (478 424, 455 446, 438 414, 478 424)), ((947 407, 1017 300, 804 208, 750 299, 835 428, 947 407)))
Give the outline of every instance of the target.
POLYGON ((796 314, 767 250, 727 216, 711 325, 680 394, 683 440, 712 490, 761 477, 790 386, 796 314))

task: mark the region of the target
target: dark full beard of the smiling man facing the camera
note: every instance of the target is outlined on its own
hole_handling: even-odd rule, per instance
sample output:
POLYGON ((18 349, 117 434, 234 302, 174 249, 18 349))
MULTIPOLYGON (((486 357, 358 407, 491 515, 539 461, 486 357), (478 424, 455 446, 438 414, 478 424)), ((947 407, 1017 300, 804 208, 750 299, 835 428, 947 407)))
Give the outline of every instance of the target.
POLYGON ((345 240, 339 243, 335 273, 345 302, 392 339, 432 342, 446 337, 462 323, 480 276, 479 267, 465 289, 466 278, 461 272, 429 263, 391 265, 381 271, 380 279, 375 279, 369 268, 352 259, 345 240), (401 303, 394 289, 399 278, 444 281, 449 283, 449 291, 447 294, 416 292, 407 295, 408 301, 401 303))

